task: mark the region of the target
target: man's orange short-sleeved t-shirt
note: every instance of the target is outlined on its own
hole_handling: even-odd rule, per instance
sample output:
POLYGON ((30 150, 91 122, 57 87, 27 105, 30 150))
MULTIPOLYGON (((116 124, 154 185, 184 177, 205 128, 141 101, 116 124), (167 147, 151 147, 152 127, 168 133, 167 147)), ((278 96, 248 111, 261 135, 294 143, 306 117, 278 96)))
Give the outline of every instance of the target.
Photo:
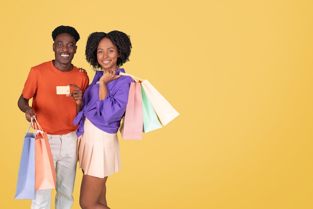
MULTIPOLYGON (((75 66, 68 72, 58 70, 52 60, 30 69, 22 94, 24 98, 32 98, 38 123, 48 134, 66 134, 77 129, 77 125, 73 124, 76 101, 71 96, 56 94, 57 85, 68 84, 75 84, 84 92, 89 79, 75 66)), ((73 90, 75 88, 70 87, 70 92, 73 90)))

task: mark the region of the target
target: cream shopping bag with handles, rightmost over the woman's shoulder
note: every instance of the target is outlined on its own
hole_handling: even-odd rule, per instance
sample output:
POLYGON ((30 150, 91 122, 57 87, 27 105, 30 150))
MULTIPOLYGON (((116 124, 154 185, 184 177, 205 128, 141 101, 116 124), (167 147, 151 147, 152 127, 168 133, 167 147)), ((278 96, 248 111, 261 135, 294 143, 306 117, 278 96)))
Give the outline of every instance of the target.
POLYGON ((154 111, 162 125, 166 125, 179 115, 179 113, 173 108, 173 106, 165 99, 165 97, 147 80, 141 79, 134 75, 120 72, 120 75, 129 75, 133 79, 140 81, 149 101, 151 102, 154 111))

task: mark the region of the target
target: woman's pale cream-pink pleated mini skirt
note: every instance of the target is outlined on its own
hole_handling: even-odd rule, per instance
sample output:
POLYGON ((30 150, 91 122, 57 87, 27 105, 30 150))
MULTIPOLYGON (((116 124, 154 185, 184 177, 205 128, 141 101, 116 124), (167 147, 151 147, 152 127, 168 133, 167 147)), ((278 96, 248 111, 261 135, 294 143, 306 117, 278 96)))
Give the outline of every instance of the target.
POLYGON ((77 159, 84 174, 103 178, 120 169, 116 133, 107 133, 84 119, 84 132, 77 140, 77 159))

